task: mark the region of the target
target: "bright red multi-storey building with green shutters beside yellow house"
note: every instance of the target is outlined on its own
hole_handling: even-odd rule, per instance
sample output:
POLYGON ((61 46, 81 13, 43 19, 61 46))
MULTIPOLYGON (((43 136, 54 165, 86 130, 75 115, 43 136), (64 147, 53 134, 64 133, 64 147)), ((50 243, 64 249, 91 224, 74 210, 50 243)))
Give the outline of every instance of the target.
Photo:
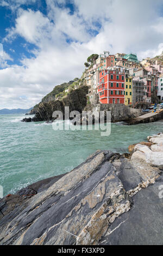
POLYGON ((124 104, 125 74, 118 69, 99 73, 98 94, 102 104, 124 104))

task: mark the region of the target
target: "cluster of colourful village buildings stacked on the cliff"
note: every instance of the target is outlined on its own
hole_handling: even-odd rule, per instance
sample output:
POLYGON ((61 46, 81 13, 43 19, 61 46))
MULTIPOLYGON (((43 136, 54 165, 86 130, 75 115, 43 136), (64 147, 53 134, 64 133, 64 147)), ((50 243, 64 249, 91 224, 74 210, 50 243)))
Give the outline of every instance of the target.
POLYGON ((110 55, 104 51, 87 58, 85 67, 82 77, 89 87, 91 104, 147 109, 163 100, 163 52, 140 62, 136 53, 110 55))

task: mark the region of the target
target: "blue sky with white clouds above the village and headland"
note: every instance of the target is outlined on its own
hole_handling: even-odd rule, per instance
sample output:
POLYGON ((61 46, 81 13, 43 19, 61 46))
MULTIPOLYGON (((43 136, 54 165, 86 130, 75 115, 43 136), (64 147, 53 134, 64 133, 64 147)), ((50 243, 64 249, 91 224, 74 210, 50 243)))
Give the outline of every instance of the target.
POLYGON ((103 51, 159 55, 162 0, 0 0, 0 109, 31 108, 103 51))

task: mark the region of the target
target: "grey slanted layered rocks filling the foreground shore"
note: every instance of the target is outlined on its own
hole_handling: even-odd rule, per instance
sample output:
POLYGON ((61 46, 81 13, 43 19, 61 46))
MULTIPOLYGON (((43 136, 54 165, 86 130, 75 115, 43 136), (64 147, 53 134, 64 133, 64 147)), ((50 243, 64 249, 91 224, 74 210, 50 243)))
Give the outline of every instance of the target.
POLYGON ((163 134, 0 201, 1 245, 162 245, 163 134))

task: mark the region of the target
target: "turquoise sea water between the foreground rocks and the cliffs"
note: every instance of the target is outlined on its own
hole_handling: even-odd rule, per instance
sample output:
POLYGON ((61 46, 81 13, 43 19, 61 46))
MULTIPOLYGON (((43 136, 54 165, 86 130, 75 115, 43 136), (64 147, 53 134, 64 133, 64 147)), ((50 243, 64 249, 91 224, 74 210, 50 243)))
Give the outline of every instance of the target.
MULTIPOLYGON (((98 149, 128 152, 128 146, 162 132, 163 122, 100 130, 53 130, 46 122, 24 123, 24 115, 0 115, 0 185, 4 195, 47 177, 64 174, 98 149)), ((27 117, 27 116, 26 116, 27 117)))

